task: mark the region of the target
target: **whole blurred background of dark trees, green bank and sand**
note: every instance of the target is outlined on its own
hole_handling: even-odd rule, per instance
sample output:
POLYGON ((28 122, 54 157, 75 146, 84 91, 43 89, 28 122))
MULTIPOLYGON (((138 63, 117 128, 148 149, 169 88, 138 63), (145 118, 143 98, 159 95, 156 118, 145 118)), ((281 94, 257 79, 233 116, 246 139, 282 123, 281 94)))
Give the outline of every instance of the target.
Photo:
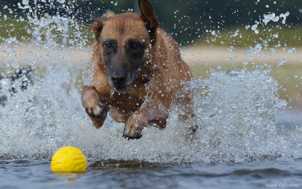
MULTIPOLYGON (((300 111, 302 107, 301 0, 150 0, 149 2, 158 16, 160 27, 181 45, 183 58, 191 65, 196 79, 208 77, 213 70, 262 69, 278 81, 279 87, 276 90, 280 98, 288 102, 288 107, 300 111), (263 20, 264 14, 272 15, 272 13, 279 16, 279 20, 266 23, 263 20)), ((48 43, 49 40, 45 39, 49 37, 46 36, 53 35, 54 39, 61 36, 61 41, 53 40, 54 46, 58 49, 70 47, 69 50, 73 51, 87 49, 87 52, 73 53, 73 55, 76 57, 76 54, 82 54, 81 60, 88 60, 90 56, 88 49, 92 48, 94 40, 90 29, 91 19, 100 17, 107 9, 115 13, 126 11, 139 13, 137 1, 132 0, 2 0, 0 2, 2 70, 7 67, 4 62, 8 60, 9 54, 5 48, 9 44, 14 44, 9 40, 11 38, 13 41, 17 40, 22 47, 26 44, 34 44, 33 40, 36 38, 40 43, 48 43), (64 17, 69 20, 51 22, 43 27, 37 24, 43 19, 46 22, 52 17, 64 17), (49 31, 52 33, 50 34, 49 31)), ((21 47, 18 45, 18 48, 21 47)), ((70 54, 61 53, 66 53, 65 57, 70 54)), ((26 60, 18 59, 16 64, 24 63, 26 60)), ((13 66, 11 71, 15 67, 13 66)), ((8 72, 2 71, 2 76, 8 72)))

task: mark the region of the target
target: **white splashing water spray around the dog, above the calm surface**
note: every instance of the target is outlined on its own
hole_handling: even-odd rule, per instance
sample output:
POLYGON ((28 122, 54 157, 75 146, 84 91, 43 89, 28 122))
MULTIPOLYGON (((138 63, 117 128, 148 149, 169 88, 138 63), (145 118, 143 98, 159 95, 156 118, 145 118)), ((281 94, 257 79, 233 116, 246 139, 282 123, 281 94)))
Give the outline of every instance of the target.
MULTIPOLYGON (((196 120, 182 123, 174 107, 165 130, 149 127, 139 140, 121 137, 124 125, 109 116, 96 130, 80 98, 81 72, 86 74, 84 83, 91 74, 86 69, 91 53, 85 51, 88 37, 81 33, 83 26, 73 18, 48 13, 38 19, 37 9, 26 0, 18 7, 29 12, 27 30, 33 37, 25 38, 27 45, 16 37, 3 40, 2 77, 24 65, 34 68, 33 79, 26 90, 14 93, 11 85, 1 86, 7 103, 0 107, 0 157, 50 158, 63 145, 82 149, 88 160, 243 162, 300 157, 298 140, 276 128, 277 108, 286 103, 278 98, 277 81, 261 69, 214 71, 208 79, 186 83, 194 91, 196 120), (192 123, 199 125, 193 135, 188 132, 192 123)), ((284 20, 286 16, 282 15, 284 20)), ((265 19, 266 24, 276 18, 265 19)), ((252 26, 256 28, 257 24, 252 26)), ((256 44, 246 56, 261 48, 256 44)), ((13 85, 22 85, 24 79, 13 85)))

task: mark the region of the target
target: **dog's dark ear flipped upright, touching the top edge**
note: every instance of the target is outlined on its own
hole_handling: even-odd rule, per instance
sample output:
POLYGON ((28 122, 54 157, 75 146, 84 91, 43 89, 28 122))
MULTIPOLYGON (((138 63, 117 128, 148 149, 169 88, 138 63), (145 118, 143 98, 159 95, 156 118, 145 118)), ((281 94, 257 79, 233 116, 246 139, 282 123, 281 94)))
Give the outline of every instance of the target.
POLYGON ((138 4, 141 12, 140 18, 146 22, 148 29, 154 33, 159 27, 159 23, 151 4, 147 0, 138 0, 138 4))

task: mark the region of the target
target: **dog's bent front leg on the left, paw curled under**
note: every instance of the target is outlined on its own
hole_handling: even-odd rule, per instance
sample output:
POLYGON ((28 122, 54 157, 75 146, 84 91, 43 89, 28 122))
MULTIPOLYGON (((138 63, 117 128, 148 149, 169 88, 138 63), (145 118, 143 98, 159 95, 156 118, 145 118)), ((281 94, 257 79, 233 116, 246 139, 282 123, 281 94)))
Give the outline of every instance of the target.
POLYGON ((94 126, 98 129, 107 117, 106 105, 94 86, 83 86, 82 105, 86 113, 92 120, 94 126))

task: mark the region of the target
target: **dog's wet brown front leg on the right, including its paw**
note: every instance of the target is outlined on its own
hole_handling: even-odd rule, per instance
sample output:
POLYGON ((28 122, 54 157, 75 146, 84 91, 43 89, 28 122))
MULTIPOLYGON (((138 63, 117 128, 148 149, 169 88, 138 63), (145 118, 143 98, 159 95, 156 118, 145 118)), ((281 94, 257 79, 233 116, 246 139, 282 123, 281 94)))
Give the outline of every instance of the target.
POLYGON ((148 125, 163 129, 166 126, 168 116, 167 103, 162 103, 160 101, 146 103, 128 118, 125 124, 123 137, 128 138, 128 140, 141 138, 143 128, 148 125))

